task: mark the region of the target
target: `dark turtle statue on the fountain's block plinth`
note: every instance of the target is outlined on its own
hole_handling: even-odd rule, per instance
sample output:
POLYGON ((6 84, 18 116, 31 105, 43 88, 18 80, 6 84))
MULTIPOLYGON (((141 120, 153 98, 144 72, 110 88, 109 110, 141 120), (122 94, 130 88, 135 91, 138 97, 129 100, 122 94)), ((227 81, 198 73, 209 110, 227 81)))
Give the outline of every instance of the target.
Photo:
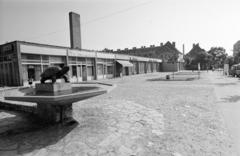
POLYGON ((48 67, 41 74, 41 83, 45 83, 46 80, 52 80, 52 83, 55 83, 57 79, 63 78, 65 82, 69 82, 67 72, 69 71, 68 66, 60 67, 48 67))

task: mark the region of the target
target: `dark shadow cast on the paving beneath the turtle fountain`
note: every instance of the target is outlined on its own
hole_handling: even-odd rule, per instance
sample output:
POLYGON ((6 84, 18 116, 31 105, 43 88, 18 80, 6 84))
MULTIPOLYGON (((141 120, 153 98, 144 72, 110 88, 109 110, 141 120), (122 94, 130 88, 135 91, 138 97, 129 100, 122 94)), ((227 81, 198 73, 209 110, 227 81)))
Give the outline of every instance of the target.
POLYGON ((4 113, 0 116, 4 116, 0 118, 0 155, 13 151, 26 154, 53 145, 78 125, 75 120, 56 125, 39 124, 29 115, 4 113))

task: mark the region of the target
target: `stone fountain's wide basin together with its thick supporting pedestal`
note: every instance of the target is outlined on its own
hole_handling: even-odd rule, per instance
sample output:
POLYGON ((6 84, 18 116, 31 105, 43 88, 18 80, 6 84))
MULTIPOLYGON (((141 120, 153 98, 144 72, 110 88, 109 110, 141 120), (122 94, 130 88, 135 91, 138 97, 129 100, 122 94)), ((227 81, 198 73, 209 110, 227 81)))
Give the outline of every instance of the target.
POLYGON ((44 88, 43 91, 36 88, 19 88, 5 96, 5 100, 37 103, 37 116, 41 121, 63 123, 73 119, 72 103, 107 93, 106 89, 96 85, 61 83, 42 84, 41 87, 44 88), (62 89, 52 92, 48 87, 53 86, 62 86, 62 89))

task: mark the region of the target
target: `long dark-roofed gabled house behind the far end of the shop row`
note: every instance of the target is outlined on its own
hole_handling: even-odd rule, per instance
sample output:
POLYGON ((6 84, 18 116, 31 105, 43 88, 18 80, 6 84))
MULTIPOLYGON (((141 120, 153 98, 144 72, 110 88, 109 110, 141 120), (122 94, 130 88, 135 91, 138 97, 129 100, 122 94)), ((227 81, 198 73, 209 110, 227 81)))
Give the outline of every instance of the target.
POLYGON ((142 46, 141 48, 133 47, 132 49, 118 49, 114 53, 128 54, 149 58, 158 58, 162 60, 161 71, 179 71, 183 70, 183 54, 176 48, 175 42, 161 43, 159 46, 150 45, 149 47, 142 46))

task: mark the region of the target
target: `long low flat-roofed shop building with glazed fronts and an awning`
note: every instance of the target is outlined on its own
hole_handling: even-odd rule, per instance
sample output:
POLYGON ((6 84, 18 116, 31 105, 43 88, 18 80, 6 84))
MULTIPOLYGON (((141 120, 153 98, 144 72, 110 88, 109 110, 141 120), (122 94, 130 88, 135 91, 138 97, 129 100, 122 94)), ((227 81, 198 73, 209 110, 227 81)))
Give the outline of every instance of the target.
MULTIPOLYGON (((161 59, 14 41, 0 45, 0 85, 38 82, 50 66, 68 65, 71 82, 158 72, 161 59)), ((58 80, 60 81, 60 80, 58 80)))

